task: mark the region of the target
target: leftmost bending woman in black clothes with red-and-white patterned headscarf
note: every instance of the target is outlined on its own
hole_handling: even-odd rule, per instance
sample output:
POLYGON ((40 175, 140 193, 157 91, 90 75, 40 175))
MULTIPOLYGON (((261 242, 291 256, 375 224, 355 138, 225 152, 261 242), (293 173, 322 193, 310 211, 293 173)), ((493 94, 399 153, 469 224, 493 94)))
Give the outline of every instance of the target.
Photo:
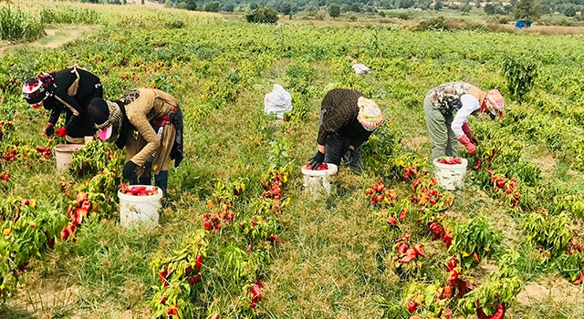
POLYGON ((22 88, 26 102, 33 108, 49 110, 50 116, 43 133, 65 137, 69 143, 83 144, 93 139, 93 123, 87 108, 93 98, 103 96, 99 77, 79 67, 68 67, 55 73, 43 73, 26 81, 22 88), (65 110, 65 127, 55 130, 61 112, 65 110))

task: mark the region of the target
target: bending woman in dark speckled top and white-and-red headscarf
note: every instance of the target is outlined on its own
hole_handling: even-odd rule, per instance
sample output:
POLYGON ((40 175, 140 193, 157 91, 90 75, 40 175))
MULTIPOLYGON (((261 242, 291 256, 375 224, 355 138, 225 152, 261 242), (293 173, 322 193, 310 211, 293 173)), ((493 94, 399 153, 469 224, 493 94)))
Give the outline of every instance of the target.
POLYGON ((339 166, 343 159, 352 170, 362 170, 360 146, 382 122, 381 109, 360 91, 328 91, 320 105, 317 153, 308 164, 316 170, 323 162, 339 166))

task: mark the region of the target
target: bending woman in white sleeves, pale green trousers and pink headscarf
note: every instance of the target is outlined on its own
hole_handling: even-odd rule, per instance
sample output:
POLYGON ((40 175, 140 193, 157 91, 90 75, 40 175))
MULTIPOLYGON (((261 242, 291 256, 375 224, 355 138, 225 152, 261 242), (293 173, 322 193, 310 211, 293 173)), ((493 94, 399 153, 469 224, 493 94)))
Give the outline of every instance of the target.
POLYGON ((505 100, 495 88, 484 92, 464 82, 444 83, 434 87, 423 101, 430 140, 432 158, 458 156, 458 142, 461 142, 470 155, 474 155, 474 137, 466 119, 487 112, 491 119, 503 116, 505 100), (455 114, 454 114, 455 113, 455 114))

